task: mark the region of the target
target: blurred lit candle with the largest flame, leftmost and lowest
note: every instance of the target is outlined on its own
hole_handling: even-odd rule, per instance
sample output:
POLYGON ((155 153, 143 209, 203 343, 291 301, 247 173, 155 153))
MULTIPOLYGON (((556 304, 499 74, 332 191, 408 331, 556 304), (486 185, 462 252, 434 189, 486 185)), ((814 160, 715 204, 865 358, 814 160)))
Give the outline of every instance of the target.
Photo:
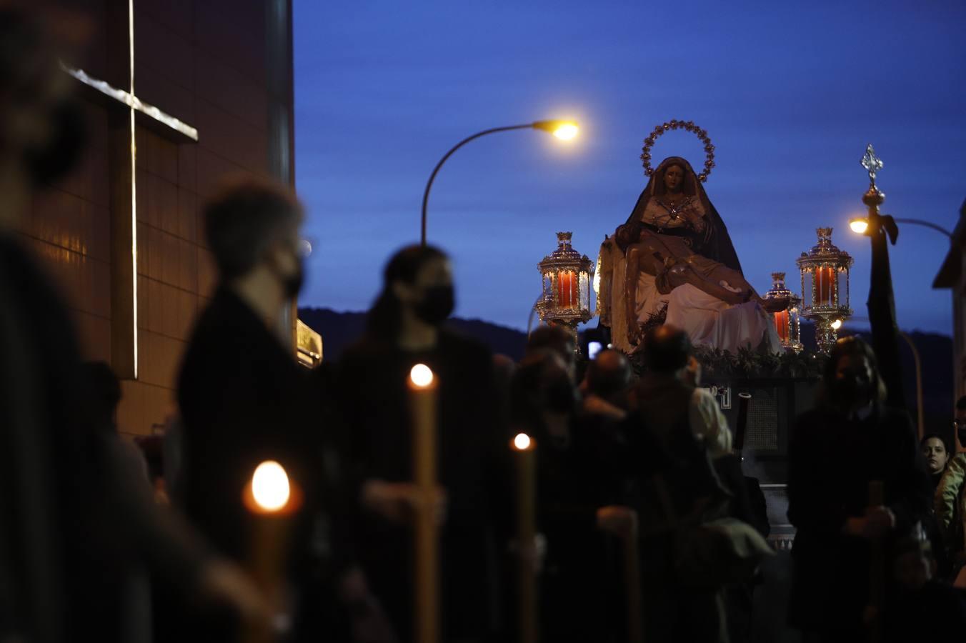
MULTIPOLYGON (((264 461, 255 468, 251 480, 245 485, 242 499, 252 515, 247 571, 274 602, 275 608, 280 609, 292 517, 300 505, 298 488, 289 480, 281 464, 264 461)), ((251 627, 245 633, 245 639, 250 643, 274 639, 273 632, 266 627, 251 627)))

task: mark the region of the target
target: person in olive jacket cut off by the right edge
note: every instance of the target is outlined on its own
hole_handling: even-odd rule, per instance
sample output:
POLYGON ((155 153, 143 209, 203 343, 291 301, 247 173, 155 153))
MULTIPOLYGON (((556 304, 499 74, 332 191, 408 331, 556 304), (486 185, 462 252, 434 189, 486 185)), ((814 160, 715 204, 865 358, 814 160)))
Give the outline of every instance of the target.
POLYGON ((934 505, 943 549, 952 570, 950 577, 966 588, 966 396, 956 401, 953 420, 959 453, 952 457, 936 487, 934 505))

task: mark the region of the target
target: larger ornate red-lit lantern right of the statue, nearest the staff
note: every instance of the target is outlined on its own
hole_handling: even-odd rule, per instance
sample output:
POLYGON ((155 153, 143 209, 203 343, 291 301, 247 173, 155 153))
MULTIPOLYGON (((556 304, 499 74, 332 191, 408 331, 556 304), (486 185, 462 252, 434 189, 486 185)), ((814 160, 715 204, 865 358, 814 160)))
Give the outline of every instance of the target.
POLYGON ((832 228, 818 228, 818 243, 796 263, 802 272, 802 317, 815 323, 815 342, 828 352, 838 327, 852 315, 848 273, 853 260, 832 244, 832 228))

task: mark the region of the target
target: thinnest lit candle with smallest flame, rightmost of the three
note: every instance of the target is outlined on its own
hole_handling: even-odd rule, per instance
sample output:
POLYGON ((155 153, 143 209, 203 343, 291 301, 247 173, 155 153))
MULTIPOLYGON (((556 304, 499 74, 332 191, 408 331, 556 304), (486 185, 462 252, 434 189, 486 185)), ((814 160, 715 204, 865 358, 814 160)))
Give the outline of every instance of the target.
MULTIPOLYGON (((534 546, 536 525, 536 442, 526 433, 510 441, 517 461, 517 547, 521 554, 534 546)), ((537 640, 537 588, 534 561, 521 556, 519 564, 520 643, 537 640)))

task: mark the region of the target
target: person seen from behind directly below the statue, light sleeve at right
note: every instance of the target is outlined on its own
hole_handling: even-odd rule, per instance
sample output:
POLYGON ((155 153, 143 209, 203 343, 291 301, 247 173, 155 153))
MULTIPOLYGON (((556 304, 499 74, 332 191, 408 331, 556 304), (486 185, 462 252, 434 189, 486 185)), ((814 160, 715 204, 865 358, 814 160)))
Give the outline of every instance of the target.
POLYGON ((648 641, 727 640, 725 585, 747 582, 767 544, 732 517, 713 460, 731 433, 701 388, 687 333, 664 324, 644 337, 647 372, 626 424, 638 479, 640 574, 648 641))

